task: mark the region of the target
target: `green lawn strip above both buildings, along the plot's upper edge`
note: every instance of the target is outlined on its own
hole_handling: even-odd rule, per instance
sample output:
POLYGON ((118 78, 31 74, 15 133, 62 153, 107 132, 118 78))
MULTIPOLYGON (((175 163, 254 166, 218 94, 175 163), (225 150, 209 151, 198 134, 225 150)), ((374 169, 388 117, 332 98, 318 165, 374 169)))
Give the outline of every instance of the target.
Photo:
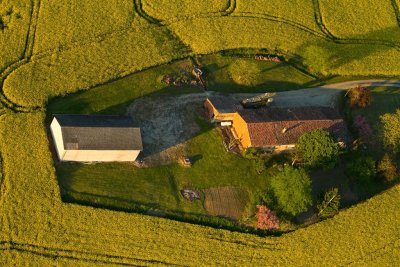
MULTIPOLYGON (((204 78, 208 90, 221 92, 265 92, 267 90, 293 90, 304 88, 314 81, 313 78, 295 69, 287 63, 264 62, 221 55, 208 55, 200 59, 204 70, 204 78), (251 66, 251 71, 249 71, 251 66), (230 71, 227 71, 230 70, 230 71), (245 77, 244 85, 236 76, 245 77), (239 83, 238 83, 239 82, 239 83)), ((162 83, 166 74, 180 75, 181 70, 190 70, 191 60, 181 60, 144 70, 123 79, 101 85, 93 90, 57 97, 49 101, 47 113, 79 113, 79 114, 121 114, 126 106, 135 98, 163 92, 180 94, 199 92, 194 87, 172 87, 162 83)))

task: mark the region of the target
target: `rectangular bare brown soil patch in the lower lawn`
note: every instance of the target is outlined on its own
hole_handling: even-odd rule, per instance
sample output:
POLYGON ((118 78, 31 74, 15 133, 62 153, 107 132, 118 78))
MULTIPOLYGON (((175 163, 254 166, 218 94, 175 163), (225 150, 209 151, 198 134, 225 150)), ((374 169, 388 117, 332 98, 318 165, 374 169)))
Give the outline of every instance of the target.
POLYGON ((235 220, 241 218, 248 202, 247 192, 232 186, 208 188, 204 195, 204 208, 210 215, 235 220))

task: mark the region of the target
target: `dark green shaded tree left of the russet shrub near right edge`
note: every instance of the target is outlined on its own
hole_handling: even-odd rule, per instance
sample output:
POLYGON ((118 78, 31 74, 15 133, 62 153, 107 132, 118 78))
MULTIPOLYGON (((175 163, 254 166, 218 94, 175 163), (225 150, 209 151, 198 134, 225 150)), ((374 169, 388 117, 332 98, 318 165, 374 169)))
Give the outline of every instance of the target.
POLYGON ((353 181, 369 183, 376 176, 375 160, 369 156, 358 156, 346 167, 346 174, 353 181))

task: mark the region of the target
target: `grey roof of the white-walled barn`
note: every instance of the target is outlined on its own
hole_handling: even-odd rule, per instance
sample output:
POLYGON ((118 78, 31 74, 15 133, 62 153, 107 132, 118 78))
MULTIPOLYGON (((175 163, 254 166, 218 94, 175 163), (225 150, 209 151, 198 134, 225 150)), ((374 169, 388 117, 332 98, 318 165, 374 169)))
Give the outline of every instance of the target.
POLYGON ((55 115, 66 150, 143 150, 140 128, 127 116, 55 115))

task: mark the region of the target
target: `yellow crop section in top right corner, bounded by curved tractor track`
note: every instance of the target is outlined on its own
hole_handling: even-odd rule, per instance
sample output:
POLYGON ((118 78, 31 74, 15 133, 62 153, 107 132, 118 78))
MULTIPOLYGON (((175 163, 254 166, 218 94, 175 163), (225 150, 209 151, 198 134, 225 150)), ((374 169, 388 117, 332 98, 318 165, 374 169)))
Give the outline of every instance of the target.
POLYGON ((326 27, 342 38, 400 40, 397 13, 391 0, 319 1, 326 27))

